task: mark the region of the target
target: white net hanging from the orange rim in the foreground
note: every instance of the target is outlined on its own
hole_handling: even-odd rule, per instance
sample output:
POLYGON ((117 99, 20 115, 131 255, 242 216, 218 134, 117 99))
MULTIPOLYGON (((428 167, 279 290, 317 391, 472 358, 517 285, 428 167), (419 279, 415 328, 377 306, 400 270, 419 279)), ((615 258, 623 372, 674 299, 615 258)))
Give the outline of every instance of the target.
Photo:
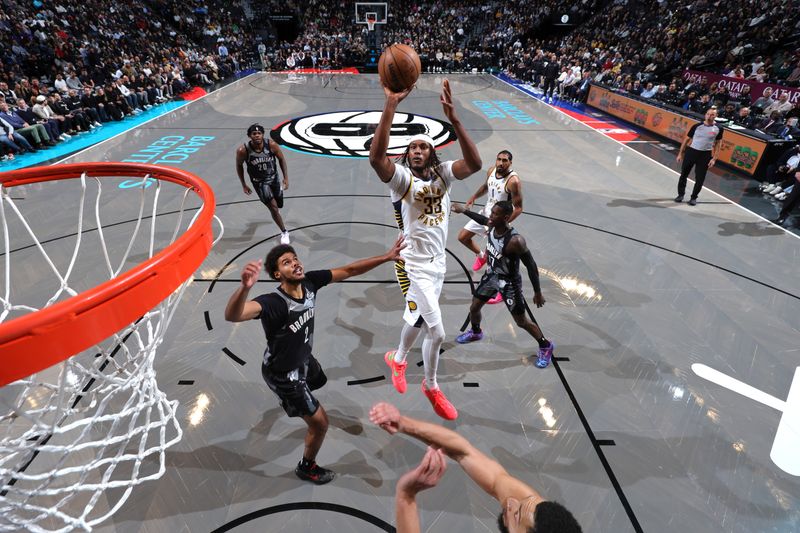
MULTIPOLYGON (((162 182, 135 180, 138 190, 131 192, 139 193, 138 214, 129 202, 132 215, 104 228, 103 213, 114 213, 119 205, 102 197, 105 181, 81 176, 77 227, 73 210, 74 233, 53 239, 37 237, 48 225, 34 227, 41 218, 34 214, 26 219, 18 204, 28 205, 13 196, 18 188, 0 186, 5 276, 0 322, 74 296, 83 290, 81 285, 118 276, 169 246, 194 223, 200 210, 195 217, 186 215, 195 209, 187 205, 190 189, 175 186, 178 190, 167 195, 167 213, 162 214, 162 182), (92 182, 93 202, 87 199, 92 182), (84 220, 87 203, 94 204, 91 225, 84 220), (158 231, 156 223, 163 219, 171 229, 158 231), (65 253, 65 241, 71 252, 65 253), (30 261, 47 265, 55 281, 26 282, 30 261), (100 276, 87 281, 86 270, 92 267, 100 276), (25 298, 32 300, 17 301, 22 298, 18 286, 40 290, 28 291, 25 298)), ((75 181, 65 180, 73 187, 75 181)), ((122 506, 133 487, 164 473, 164 451, 181 439, 182 431, 178 402, 169 401, 158 388, 154 357, 189 281, 98 345, 0 389, 0 531, 91 530, 122 506)))

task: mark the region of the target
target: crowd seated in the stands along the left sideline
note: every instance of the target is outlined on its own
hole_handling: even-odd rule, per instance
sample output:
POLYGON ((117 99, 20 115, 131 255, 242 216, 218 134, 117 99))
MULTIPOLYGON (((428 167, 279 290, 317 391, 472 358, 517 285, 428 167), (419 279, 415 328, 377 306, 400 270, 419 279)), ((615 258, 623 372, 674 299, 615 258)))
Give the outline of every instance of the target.
POLYGON ((46 149, 210 86, 251 47, 220 0, 0 1, 0 155, 46 149))

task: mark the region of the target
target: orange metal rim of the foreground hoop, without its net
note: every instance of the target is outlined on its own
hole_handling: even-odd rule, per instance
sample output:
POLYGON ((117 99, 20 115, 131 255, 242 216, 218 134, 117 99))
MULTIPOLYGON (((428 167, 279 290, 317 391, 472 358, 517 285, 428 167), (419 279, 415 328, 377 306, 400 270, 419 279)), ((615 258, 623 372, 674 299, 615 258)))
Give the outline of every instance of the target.
POLYGON ((167 298, 203 263, 213 243, 214 192, 197 176, 138 163, 73 163, 0 173, 4 187, 87 177, 150 177, 192 189, 203 201, 174 243, 114 279, 40 311, 0 324, 0 386, 86 350, 167 298))

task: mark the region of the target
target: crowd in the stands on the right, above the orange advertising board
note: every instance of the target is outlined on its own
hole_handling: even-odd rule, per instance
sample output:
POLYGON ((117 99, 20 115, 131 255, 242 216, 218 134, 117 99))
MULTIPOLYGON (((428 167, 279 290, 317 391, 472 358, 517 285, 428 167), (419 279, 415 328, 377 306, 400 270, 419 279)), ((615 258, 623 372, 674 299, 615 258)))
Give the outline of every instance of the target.
POLYGON ((589 83, 783 138, 800 138, 800 108, 771 91, 751 102, 717 83, 685 83, 686 68, 740 79, 800 85, 800 10, 796 0, 614 1, 562 40, 507 39, 507 73, 540 86, 547 98, 585 98, 589 83))

